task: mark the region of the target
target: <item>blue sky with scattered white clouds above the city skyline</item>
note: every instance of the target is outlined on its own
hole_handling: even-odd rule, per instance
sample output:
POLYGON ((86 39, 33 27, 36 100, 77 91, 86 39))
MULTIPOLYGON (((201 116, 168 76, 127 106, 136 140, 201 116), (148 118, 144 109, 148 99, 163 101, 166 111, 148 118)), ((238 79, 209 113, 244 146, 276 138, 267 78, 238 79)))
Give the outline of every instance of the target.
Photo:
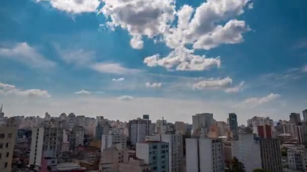
POLYGON ((6 116, 191 123, 307 109, 307 2, 0 1, 6 116))

